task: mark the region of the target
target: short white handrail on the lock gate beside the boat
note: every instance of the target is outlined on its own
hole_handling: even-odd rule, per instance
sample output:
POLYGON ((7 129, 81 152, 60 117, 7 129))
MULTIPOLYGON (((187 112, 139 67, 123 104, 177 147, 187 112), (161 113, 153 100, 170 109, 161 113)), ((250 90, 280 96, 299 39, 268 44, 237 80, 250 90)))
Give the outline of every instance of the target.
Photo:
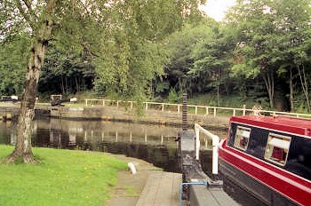
POLYGON ((210 131, 205 130, 198 123, 195 123, 195 158, 199 159, 200 155, 200 131, 203 132, 209 139, 211 139, 212 145, 212 170, 211 172, 215 175, 218 174, 218 147, 219 147, 219 137, 212 134, 210 131))

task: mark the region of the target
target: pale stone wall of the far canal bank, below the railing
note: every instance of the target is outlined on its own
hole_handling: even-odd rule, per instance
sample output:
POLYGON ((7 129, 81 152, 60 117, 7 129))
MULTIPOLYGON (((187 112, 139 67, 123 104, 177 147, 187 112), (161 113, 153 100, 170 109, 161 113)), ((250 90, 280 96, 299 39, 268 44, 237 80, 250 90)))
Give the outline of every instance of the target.
MULTIPOLYGON (((0 116, 17 116, 18 105, 0 107, 0 116)), ((105 120, 128 123, 152 123, 180 127, 182 114, 176 111, 161 111, 148 109, 142 115, 137 115, 136 110, 129 110, 125 107, 51 107, 50 105, 36 105, 36 116, 51 116, 52 118, 72 120, 105 120)), ((4 118, 5 119, 5 118, 4 118)), ((213 115, 187 115, 187 123, 192 127, 195 123, 206 126, 209 129, 227 128, 227 116, 213 115)))

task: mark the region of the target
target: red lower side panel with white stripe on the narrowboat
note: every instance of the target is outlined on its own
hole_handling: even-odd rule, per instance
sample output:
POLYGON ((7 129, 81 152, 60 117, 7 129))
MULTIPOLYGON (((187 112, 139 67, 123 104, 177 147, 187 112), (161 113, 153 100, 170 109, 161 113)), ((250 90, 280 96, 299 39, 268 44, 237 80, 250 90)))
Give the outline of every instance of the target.
POLYGON ((283 194, 292 202, 311 205, 311 199, 308 198, 311 195, 311 188, 306 181, 288 175, 282 170, 268 165, 267 162, 256 160, 251 155, 245 155, 238 150, 226 147, 225 144, 219 147, 219 157, 220 160, 234 165, 235 168, 243 171, 261 184, 283 194))

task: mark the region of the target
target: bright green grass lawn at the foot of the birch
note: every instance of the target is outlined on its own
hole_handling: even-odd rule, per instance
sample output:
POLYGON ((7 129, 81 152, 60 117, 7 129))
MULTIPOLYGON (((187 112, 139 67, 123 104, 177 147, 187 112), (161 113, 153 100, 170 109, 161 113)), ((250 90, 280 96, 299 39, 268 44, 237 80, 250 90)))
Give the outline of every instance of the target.
MULTIPOLYGON (((0 145, 0 158, 13 147, 0 145)), ((104 205, 125 162, 103 153, 33 148, 37 165, 0 164, 0 205, 104 205)))

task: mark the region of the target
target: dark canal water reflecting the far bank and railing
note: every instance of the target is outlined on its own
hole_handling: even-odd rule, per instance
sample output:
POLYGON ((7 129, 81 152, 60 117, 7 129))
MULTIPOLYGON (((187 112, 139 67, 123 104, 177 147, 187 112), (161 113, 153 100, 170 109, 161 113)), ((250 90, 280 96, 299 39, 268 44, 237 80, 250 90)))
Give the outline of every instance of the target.
MULTIPOLYGON (((163 125, 44 118, 34 123, 32 145, 127 155, 151 162, 165 171, 180 172, 175 141, 179 131, 180 128, 163 125)), ((209 131, 220 139, 227 135, 227 130, 209 131)), ((15 142, 16 123, 0 121, 0 144, 14 145, 15 142)), ((200 150, 203 170, 211 176, 211 142, 202 141, 200 150)), ((262 204, 232 184, 224 188, 242 205, 262 204)))

